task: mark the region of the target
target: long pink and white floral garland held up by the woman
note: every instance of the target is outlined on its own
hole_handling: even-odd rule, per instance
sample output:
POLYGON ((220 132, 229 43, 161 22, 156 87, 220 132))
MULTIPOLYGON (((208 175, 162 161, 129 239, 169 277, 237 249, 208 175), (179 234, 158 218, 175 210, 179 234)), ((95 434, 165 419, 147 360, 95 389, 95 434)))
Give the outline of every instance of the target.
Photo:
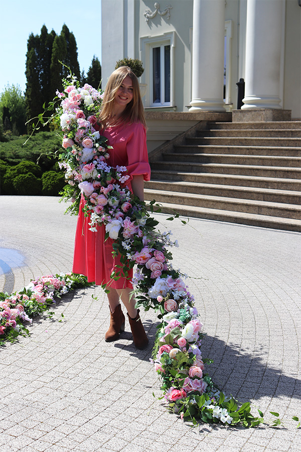
MULTIPOLYGON (((46 124, 52 122, 61 129, 64 151, 57 157, 68 182, 61 194, 63 200, 74 201, 66 212, 78 213, 82 195, 84 213, 90 216, 90 230, 97 231, 98 225, 105 225, 106 237, 114 240, 112 254, 120 256, 121 265, 112 274, 113 279, 127 277, 128 270, 136 265, 136 306, 155 309, 161 320, 152 362, 162 380, 169 408, 194 424, 201 419, 207 423, 259 425, 263 422, 261 411, 258 410, 259 416, 253 416, 249 402, 240 406, 233 397, 226 398, 204 373, 204 364, 212 361, 201 355, 203 325, 183 275, 171 264, 168 248, 177 246, 177 241, 170 239, 171 233, 156 230, 158 221, 150 216, 155 201, 150 203, 149 213, 145 203, 127 188, 126 167, 112 168, 106 163, 112 148, 96 130, 102 92, 88 84, 80 87, 73 75, 63 80, 63 86, 64 91, 57 91, 45 111, 57 105, 46 124)), ((45 124, 43 115, 38 120, 45 124)), ((15 308, 16 318, 19 310, 15 308)), ((0 312, 2 319, 8 321, 6 315, 0 312)), ((9 320, 13 329, 16 318, 9 320)), ((22 312, 20 318, 28 320, 22 312)), ((276 416, 273 425, 278 425, 278 413, 271 414, 276 416)))

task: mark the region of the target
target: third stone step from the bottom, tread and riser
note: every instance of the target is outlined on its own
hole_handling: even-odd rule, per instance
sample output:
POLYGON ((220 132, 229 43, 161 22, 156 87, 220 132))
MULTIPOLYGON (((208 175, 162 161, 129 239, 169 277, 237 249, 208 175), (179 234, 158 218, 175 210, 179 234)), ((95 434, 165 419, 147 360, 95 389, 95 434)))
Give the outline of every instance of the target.
POLYGON ((235 185, 222 185, 197 182, 183 182, 165 180, 151 180, 144 183, 145 189, 160 191, 180 191, 181 193, 194 193, 210 196, 226 196, 257 201, 279 202, 286 204, 301 203, 301 193, 298 191, 275 190, 269 188, 243 187, 235 185))

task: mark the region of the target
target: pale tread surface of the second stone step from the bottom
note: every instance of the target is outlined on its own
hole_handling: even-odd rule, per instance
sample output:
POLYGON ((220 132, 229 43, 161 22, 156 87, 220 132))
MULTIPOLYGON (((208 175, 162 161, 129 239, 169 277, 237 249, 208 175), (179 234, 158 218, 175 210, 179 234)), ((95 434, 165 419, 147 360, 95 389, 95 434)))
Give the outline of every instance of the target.
MULTIPOLYGON (((156 197, 156 193, 158 193, 158 190, 155 190, 152 188, 145 188, 144 192, 145 192, 145 194, 154 194, 156 197)), ((281 209, 290 209, 290 210, 300 210, 301 211, 301 205, 285 204, 283 202, 258 201, 258 200, 253 200, 253 199, 230 198, 230 197, 226 197, 226 196, 202 195, 202 194, 196 194, 196 193, 183 193, 183 192, 168 191, 168 190, 162 190, 160 192, 160 194, 161 195, 164 194, 166 196, 172 196, 172 197, 207 199, 210 201, 222 201, 222 202, 231 202, 231 203, 237 203, 237 204, 249 204, 249 205, 267 206, 267 207, 277 207, 277 208, 281 208, 281 209)))

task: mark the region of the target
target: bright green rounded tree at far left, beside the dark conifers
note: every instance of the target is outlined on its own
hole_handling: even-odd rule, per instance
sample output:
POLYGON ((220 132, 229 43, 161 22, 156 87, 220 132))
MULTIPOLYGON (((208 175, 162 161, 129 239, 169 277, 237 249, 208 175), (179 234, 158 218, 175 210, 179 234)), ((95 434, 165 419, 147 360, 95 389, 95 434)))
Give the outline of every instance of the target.
POLYGON ((16 86, 14 84, 7 85, 0 94, 0 121, 1 135, 4 135, 4 139, 6 139, 7 131, 11 131, 13 135, 21 135, 26 132, 25 97, 18 84, 16 86))

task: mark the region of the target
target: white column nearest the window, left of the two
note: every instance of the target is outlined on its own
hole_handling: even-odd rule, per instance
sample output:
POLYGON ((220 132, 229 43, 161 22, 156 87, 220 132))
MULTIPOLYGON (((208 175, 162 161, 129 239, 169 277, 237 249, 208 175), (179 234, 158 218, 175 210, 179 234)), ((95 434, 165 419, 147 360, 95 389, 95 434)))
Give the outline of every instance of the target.
POLYGON ((225 1, 194 0, 192 101, 189 111, 225 111, 225 1))

